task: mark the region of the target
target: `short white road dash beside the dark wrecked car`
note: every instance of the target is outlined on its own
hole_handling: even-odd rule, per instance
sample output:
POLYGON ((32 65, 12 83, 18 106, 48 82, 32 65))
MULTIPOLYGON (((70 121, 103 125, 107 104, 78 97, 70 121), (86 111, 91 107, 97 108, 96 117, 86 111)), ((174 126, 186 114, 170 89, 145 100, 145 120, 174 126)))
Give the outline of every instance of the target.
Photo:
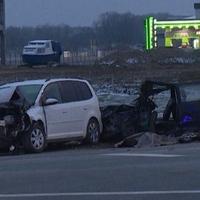
POLYGON ((132 156, 132 157, 159 157, 159 158, 176 158, 182 157, 183 155, 173 154, 152 154, 152 153, 110 153, 104 154, 106 156, 132 156))

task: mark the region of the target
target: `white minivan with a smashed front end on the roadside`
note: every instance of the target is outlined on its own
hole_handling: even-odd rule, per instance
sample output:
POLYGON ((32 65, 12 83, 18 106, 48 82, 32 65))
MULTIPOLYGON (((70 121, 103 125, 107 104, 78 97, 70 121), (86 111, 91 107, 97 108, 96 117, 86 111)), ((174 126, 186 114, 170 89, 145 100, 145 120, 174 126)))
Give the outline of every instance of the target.
POLYGON ((101 113, 91 85, 79 79, 15 82, 0 86, 0 147, 23 144, 41 152, 47 143, 99 141, 101 113))

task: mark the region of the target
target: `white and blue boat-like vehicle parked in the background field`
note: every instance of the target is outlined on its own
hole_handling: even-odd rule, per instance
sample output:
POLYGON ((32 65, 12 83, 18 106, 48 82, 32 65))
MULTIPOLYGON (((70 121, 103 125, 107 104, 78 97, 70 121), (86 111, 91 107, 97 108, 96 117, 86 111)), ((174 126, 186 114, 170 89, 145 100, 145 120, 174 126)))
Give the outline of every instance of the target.
POLYGON ((34 40, 24 47, 22 59, 28 65, 47 65, 60 63, 61 55, 60 43, 53 40, 34 40))

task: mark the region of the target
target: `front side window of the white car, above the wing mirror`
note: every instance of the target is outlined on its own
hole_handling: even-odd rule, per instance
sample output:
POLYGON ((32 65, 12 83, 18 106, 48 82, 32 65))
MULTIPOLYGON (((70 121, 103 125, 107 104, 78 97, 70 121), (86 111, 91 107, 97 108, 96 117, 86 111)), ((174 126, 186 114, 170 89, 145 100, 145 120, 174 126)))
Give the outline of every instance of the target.
POLYGON ((43 93, 44 99, 57 99, 58 103, 62 102, 61 94, 60 94, 60 88, 58 83, 50 83, 44 90, 43 93))

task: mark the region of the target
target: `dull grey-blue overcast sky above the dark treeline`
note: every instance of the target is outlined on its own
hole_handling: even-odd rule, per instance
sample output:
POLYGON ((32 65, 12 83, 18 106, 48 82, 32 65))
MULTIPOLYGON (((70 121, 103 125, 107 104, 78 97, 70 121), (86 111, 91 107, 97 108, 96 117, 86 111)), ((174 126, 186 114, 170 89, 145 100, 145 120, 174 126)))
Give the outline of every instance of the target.
POLYGON ((200 0, 5 0, 6 25, 91 25, 107 11, 147 14, 168 12, 194 15, 193 3, 200 0))

